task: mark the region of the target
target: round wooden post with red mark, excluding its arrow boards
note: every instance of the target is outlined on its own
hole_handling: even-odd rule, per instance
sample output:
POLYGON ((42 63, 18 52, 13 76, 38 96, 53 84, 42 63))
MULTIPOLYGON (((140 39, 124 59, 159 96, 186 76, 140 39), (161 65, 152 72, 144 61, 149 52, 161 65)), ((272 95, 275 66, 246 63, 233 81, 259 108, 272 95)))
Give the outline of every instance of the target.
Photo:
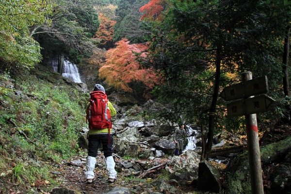
MULTIPOLYGON (((252 80, 252 72, 243 72, 242 81, 248 80, 252 80)), ((264 194, 257 114, 245 115, 245 122, 252 194, 264 194)))

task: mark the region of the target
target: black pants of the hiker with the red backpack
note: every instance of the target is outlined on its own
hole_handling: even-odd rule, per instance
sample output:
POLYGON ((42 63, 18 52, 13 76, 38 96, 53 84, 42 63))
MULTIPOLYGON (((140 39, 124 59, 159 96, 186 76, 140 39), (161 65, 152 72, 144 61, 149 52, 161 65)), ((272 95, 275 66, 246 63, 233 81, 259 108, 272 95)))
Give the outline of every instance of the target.
POLYGON ((98 148, 100 144, 103 146, 103 152, 105 158, 108 156, 112 156, 113 153, 113 136, 110 134, 110 138, 108 139, 108 134, 94 134, 94 135, 89 135, 88 137, 88 156, 91 157, 96 157, 98 148), (110 141, 108 144, 108 140, 110 141))

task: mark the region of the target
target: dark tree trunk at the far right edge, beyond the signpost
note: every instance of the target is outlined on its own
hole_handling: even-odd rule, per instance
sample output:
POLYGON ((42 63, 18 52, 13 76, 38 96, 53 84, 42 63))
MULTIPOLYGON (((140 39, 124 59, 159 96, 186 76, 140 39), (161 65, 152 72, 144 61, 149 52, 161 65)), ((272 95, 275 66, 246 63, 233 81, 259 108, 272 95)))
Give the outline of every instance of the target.
MULTIPOLYGON (((284 39, 284 52, 283 52, 283 91, 285 97, 290 97, 290 89, 289 89, 289 76, 288 76, 288 66, 289 66, 289 47, 290 47, 290 27, 286 28, 286 36, 284 39)), ((289 122, 291 120, 291 106, 286 105, 287 113, 285 115, 285 119, 289 122)))

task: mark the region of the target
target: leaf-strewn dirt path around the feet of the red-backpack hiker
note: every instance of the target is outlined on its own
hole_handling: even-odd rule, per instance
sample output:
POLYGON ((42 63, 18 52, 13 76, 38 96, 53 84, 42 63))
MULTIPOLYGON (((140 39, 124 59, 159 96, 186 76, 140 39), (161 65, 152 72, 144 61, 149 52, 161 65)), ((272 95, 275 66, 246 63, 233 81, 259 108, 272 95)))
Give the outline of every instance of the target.
MULTIPOLYGON (((167 158, 156 158, 154 162, 162 164, 168 160, 167 158)), ((84 174, 85 161, 85 158, 76 157, 71 161, 62 162, 59 166, 59 172, 52 172, 55 173, 55 178, 60 183, 60 187, 69 188, 81 194, 100 194, 114 187, 126 187, 136 192, 136 194, 143 192, 161 192, 152 184, 152 180, 159 176, 161 169, 149 174, 147 178, 138 178, 138 176, 130 176, 129 173, 118 172, 116 181, 114 183, 108 183, 105 168, 96 167, 96 181, 92 184, 86 184, 86 176, 84 174)), ((119 159, 115 158, 115 162, 119 162, 119 159)), ((104 163, 103 154, 97 157, 97 163, 104 163)), ((181 190, 181 193, 187 193, 193 192, 194 188, 184 187, 179 188, 179 190, 181 190)))

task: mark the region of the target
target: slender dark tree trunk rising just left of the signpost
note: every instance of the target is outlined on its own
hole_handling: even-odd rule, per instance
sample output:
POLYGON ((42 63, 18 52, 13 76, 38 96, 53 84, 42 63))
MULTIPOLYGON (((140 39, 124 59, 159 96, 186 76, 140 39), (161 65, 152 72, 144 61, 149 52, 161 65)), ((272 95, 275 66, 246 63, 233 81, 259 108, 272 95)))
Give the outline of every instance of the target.
POLYGON ((215 112, 216 112, 216 105, 217 105, 217 99, 219 95, 219 85, 220 85, 220 67, 221 67, 221 43, 218 43, 217 46, 217 55, 216 55, 216 70, 215 70, 215 84, 214 84, 214 91, 212 96, 212 101, 209 109, 209 130, 207 133, 207 144, 205 147, 205 154, 204 156, 201 156, 201 159, 207 159, 210 157, 212 142, 213 142, 213 134, 214 134, 214 128, 215 128, 215 112))

